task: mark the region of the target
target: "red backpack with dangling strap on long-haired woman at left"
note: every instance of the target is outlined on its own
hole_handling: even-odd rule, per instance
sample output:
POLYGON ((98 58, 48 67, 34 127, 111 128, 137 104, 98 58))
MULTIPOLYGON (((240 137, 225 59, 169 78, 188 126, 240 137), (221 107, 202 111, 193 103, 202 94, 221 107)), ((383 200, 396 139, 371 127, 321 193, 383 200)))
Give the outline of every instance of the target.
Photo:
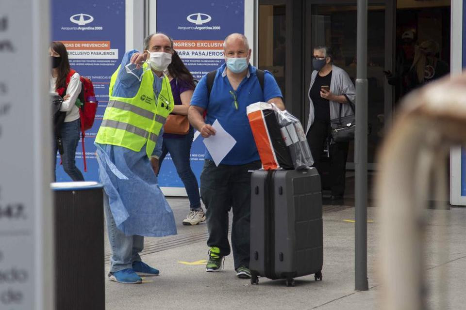
MULTIPOLYGON (((76 71, 73 69, 69 70, 67 76, 67 87, 69 80, 75 73, 76 71)), ((84 77, 80 77, 80 80, 82 87, 78 98, 83 103, 83 105, 79 109, 79 118, 81 120, 81 142, 83 145, 84 172, 87 172, 86 151, 84 148, 84 131, 92 128, 94 119, 96 117, 97 105, 99 102, 96 100, 96 94, 94 93, 94 85, 92 85, 92 81, 89 78, 84 77)), ((57 93, 62 97, 65 95, 65 92, 66 88, 57 89, 57 93)))

